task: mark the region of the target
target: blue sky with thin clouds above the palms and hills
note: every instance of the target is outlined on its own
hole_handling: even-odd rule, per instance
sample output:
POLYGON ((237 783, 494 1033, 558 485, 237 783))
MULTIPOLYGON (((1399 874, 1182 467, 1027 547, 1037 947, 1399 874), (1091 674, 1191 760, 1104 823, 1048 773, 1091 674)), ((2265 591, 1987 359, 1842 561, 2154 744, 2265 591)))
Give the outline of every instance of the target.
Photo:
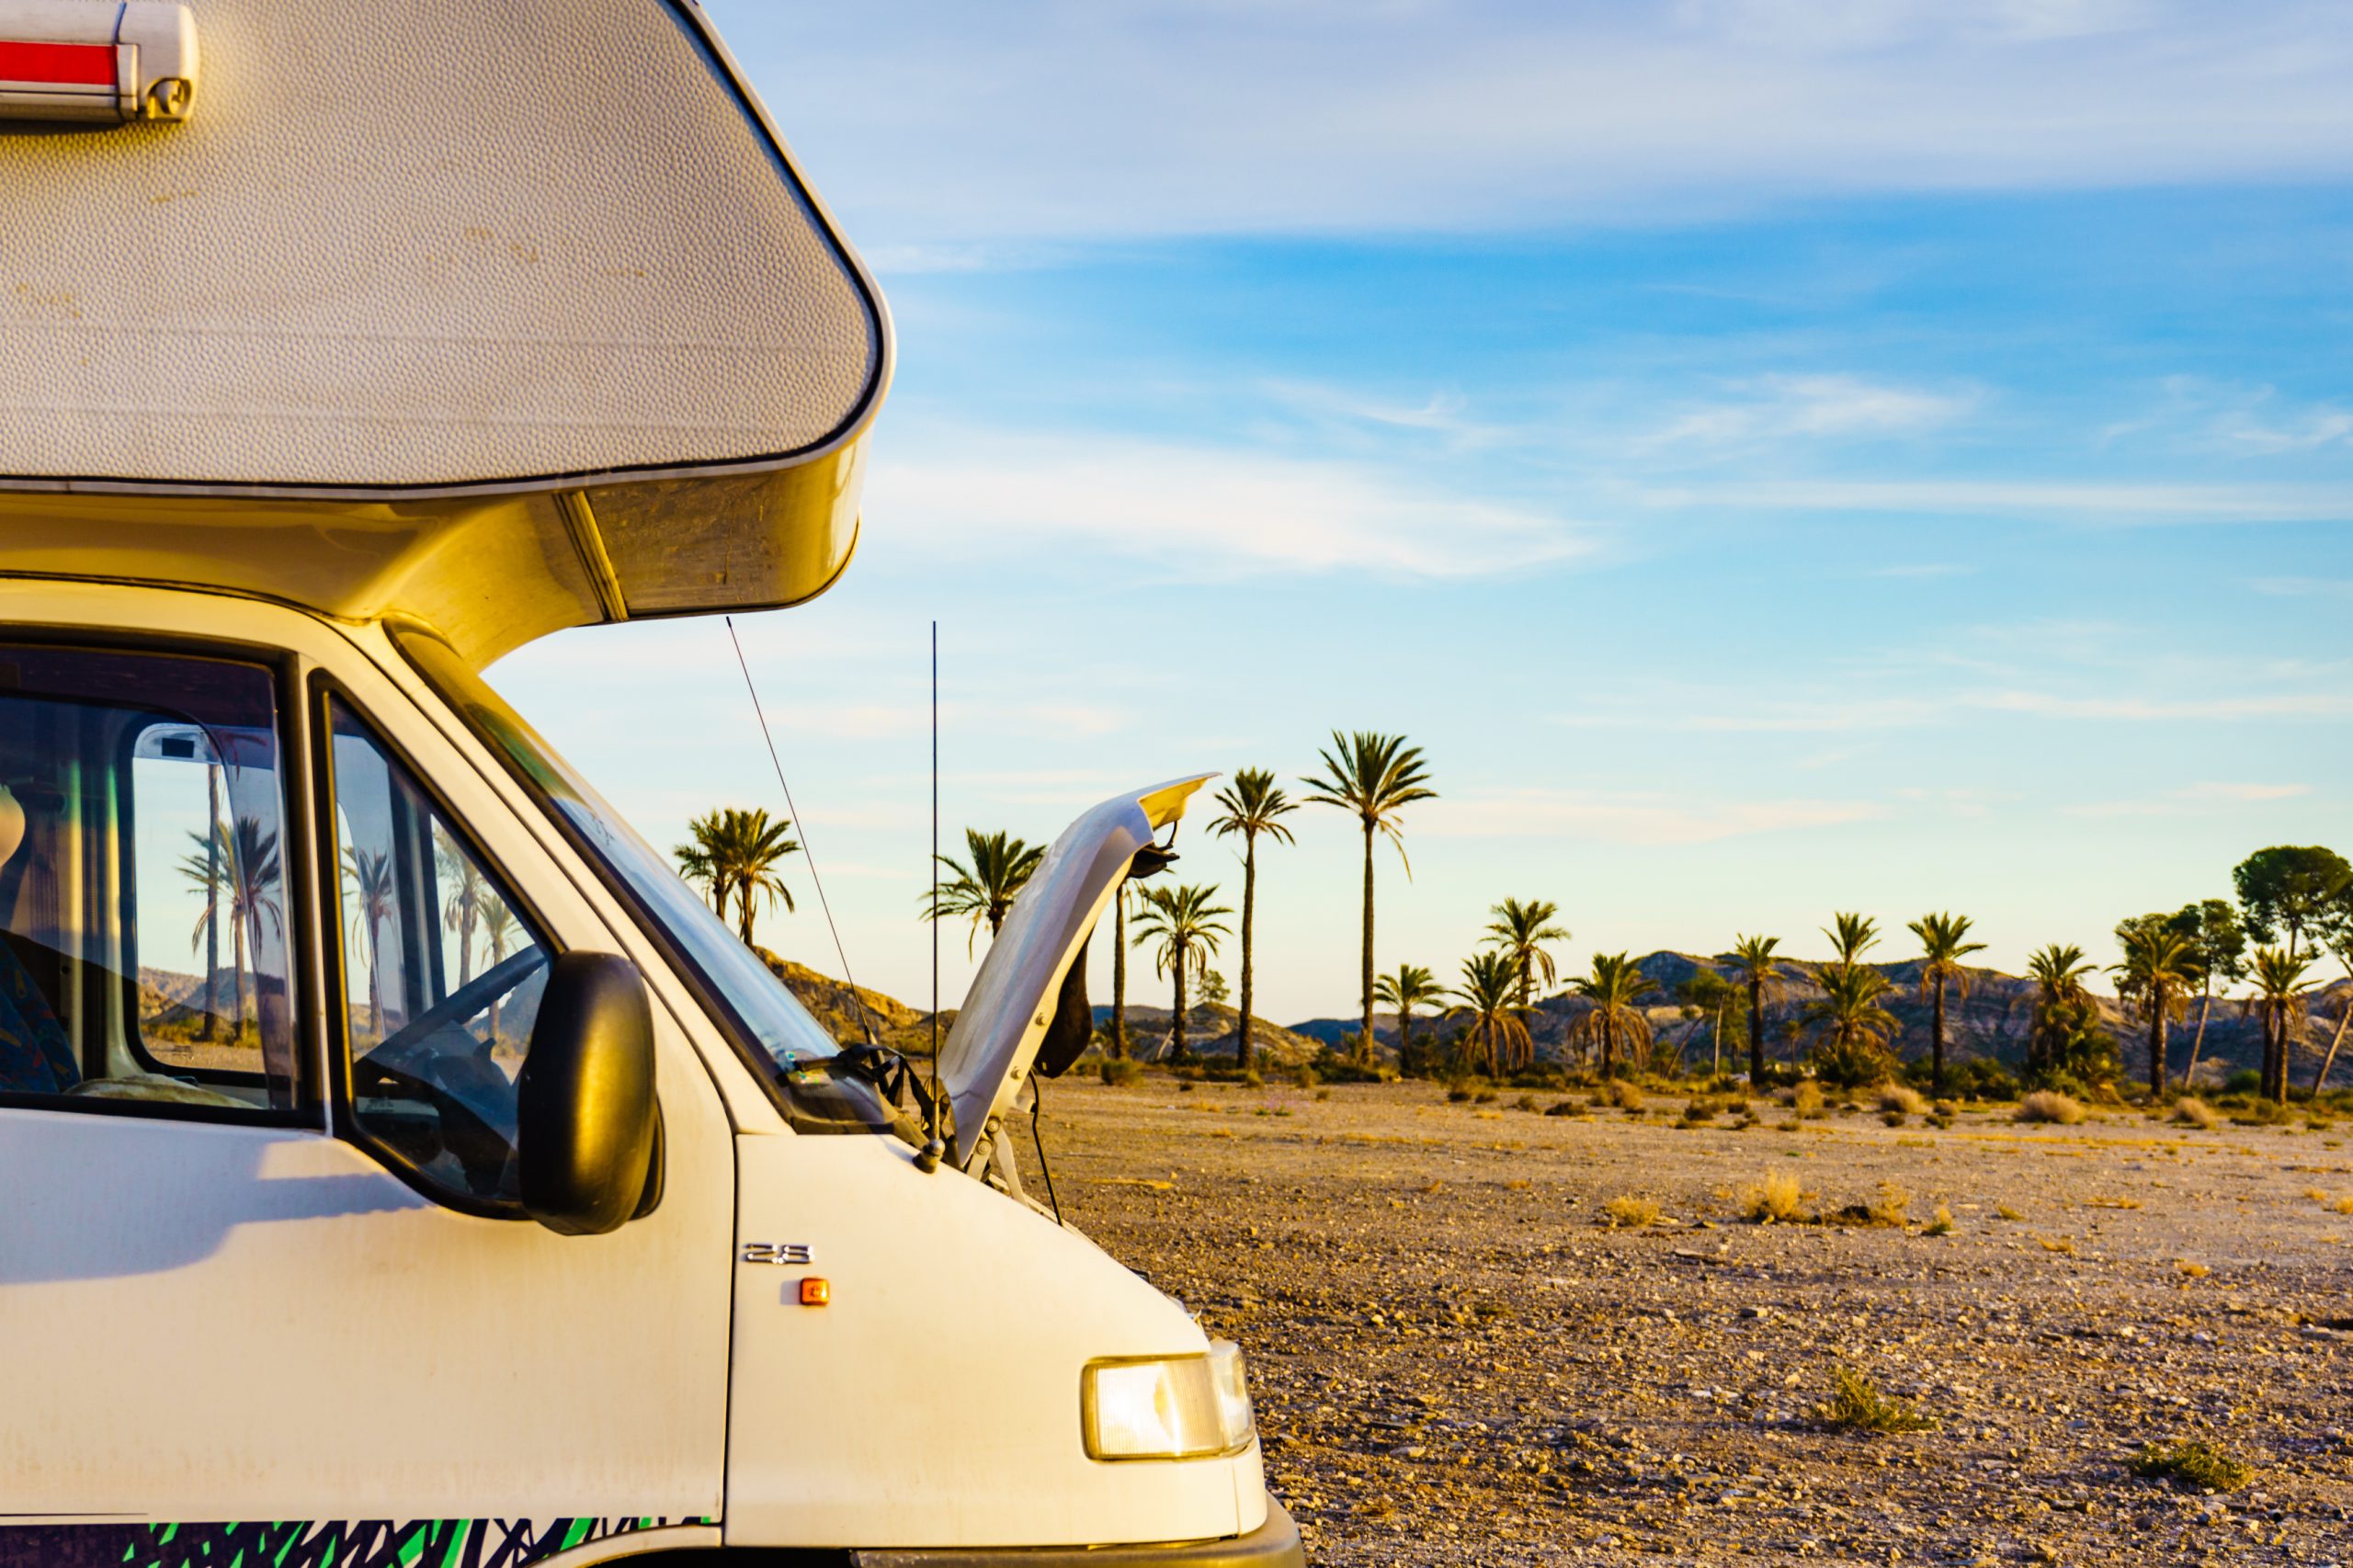
MULTIPOLYGON (((934 614, 951 841, 1421 742, 1384 968, 1504 895, 1577 968, 1833 909, 2106 958, 2353 850, 2344 12, 713 12, 899 325, 856 565, 739 619, 861 982, 927 986, 934 614)), ((492 680, 656 843, 776 805, 718 624, 492 680)), ((1294 822, 1278 1019, 1355 984, 1355 836, 1294 822)))

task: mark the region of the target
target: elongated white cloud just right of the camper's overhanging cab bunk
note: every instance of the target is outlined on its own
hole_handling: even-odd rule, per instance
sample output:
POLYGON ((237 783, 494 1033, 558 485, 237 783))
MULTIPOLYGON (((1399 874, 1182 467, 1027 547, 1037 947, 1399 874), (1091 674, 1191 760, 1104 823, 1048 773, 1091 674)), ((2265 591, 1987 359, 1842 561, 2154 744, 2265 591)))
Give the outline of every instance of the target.
POLYGON ((1181 577, 1485 577, 1577 560, 1577 525, 1374 464, 1096 436, 981 436, 875 459, 868 516, 925 549, 1087 546, 1181 577))

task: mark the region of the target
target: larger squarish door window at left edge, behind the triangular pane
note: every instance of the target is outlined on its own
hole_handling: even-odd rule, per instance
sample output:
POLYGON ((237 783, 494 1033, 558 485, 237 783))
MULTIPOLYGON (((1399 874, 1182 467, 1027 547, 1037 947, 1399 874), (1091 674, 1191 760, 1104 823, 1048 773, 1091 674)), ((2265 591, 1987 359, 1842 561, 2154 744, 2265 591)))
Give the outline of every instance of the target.
POLYGON ((233 659, 0 645, 0 1095, 299 1109, 275 692, 233 659))

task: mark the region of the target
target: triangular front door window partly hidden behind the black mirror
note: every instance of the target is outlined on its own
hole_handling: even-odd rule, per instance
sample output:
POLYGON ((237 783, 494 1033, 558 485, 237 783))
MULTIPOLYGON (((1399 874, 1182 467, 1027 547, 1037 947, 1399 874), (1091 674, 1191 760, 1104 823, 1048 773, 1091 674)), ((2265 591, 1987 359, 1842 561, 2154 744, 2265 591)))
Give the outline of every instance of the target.
POLYGON ((327 699, 327 732, 353 1123, 428 1187, 508 1208, 515 1076, 548 946, 341 697, 327 699))

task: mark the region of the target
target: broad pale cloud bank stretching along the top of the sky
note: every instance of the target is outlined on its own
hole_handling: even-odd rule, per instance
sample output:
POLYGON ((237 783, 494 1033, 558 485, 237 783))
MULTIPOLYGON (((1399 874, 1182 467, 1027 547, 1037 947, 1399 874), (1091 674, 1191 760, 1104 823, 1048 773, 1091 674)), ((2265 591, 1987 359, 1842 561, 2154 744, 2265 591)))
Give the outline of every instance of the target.
POLYGON ((2353 172, 2337 0, 711 0, 849 233, 1532 228, 2353 172))

